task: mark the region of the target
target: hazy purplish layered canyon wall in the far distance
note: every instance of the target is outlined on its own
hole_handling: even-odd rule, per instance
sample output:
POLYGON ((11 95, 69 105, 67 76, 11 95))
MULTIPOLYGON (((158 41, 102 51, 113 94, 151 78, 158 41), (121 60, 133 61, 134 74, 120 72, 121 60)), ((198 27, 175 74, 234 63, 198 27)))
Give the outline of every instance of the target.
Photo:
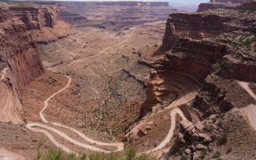
POLYGON ((176 12, 166 2, 36 2, 55 4, 61 17, 76 27, 90 26, 113 30, 125 29, 157 20, 166 20, 176 12), (92 14, 93 13, 93 14, 92 14))

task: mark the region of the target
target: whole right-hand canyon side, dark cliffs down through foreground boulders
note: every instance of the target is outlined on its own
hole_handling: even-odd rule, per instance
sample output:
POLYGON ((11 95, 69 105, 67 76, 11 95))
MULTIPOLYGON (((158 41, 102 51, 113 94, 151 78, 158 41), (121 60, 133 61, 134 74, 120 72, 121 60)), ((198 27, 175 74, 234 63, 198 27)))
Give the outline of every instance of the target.
MULTIPOLYGON (((237 123, 246 128, 243 134, 252 134, 252 127, 237 108, 256 101, 237 82, 256 81, 256 37, 252 29, 256 22, 254 4, 245 3, 236 10, 170 14, 162 45, 167 52, 163 58, 151 63, 156 70, 154 75, 186 75, 201 83, 201 87, 195 99, 185 105, 189 111, 186 115, 192 117, 191 122, 180 122, 180 133, 175 136, 173 147, 163 159, 220 156, 232 159, 246 152, 241 149, 233 153, 230 149, 230 145, 237 144, 232 141, 235 135, 230 132, 232 126, 228 121, 240 116, 237 123)), ((157 90, 157 85, 148 87, 147 99, 156 99, 154 92, 157 90)), ((143 106, 142 111, 152 111, 152 107, 154 105, 151 108, 143 106)), ((250 143, 244 148, 252 146, 250 143)), ((246 156, 253 159, 248 152, 246 156)))

